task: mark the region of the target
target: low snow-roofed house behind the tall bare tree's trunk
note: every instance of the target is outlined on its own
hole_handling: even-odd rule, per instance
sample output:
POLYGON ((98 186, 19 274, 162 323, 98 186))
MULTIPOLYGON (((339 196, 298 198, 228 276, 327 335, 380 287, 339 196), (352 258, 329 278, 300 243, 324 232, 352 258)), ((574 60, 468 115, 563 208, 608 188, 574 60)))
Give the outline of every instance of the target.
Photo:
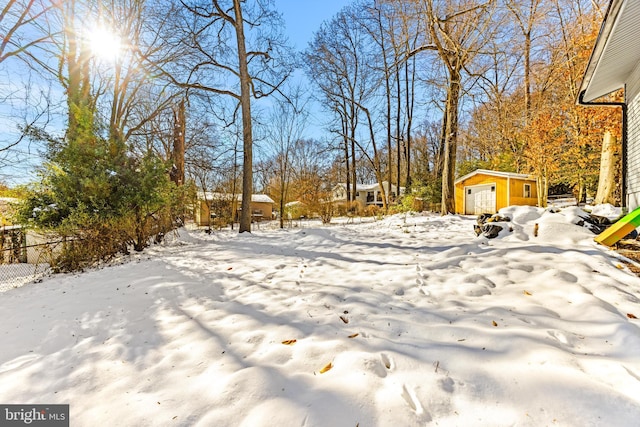
MULTIPOLYGON (((234 213, 234 221, 238 221, 242 210, 242 195, 235 198, 231 194, 198 192, 198 202, 194 209, 194 219, 198 226, 211 225, 213 220, 223 217, 225 213, 234 213)), ((275 202, 266 194, 251 196, 252 222, 273 219, 273 205, 275 202)))

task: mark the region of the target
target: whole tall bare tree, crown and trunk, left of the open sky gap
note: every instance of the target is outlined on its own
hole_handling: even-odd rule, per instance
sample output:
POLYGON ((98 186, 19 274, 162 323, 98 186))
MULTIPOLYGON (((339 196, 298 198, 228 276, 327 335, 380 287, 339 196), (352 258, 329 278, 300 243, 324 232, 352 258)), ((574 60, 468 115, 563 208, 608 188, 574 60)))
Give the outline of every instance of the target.
MULTIPOLYGON (((243 179, 240 233, 251 231, 253 129, 251 98, 277 91, 292 69, 271 0, 181 2, 165 40, 180 61, 158 67, 179 87, 232 99, 240 111, 243 179), (177 19, 176 19, 177 18, 177 19)), ((152 67, 157 64, 151 63, 152 67)), ((228 123, 235 117, 227 118, 228 123)))

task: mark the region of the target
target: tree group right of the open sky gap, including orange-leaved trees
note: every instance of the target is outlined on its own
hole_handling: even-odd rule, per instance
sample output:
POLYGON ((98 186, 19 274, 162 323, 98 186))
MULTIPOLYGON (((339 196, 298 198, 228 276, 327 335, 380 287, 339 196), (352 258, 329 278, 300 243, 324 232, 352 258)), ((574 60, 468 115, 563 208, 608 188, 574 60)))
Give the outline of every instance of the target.
MULTIPOLYGON (((594 196, 601 141, 619 137, 620 113, 576 99, 607 4, 361 0, 344 8, 304 58, 351 192, 364 158, 375 180, 441 201, 443 213, 454 212, 455 178, 477 168, 535 175, 540 206, 550 191, 594 196)), ((607 201, 619 200, 615 190, 607 201)))

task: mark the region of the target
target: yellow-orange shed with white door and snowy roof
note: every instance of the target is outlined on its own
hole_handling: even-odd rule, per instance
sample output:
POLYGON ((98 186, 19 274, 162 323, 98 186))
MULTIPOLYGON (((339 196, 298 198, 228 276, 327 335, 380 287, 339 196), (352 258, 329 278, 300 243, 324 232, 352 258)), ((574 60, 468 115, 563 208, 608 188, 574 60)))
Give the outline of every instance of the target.
POLYGON ((536 179, 531 175, 478 169, 455 182, 456 213, 496 213, 512 205, 536 206, 536 179))

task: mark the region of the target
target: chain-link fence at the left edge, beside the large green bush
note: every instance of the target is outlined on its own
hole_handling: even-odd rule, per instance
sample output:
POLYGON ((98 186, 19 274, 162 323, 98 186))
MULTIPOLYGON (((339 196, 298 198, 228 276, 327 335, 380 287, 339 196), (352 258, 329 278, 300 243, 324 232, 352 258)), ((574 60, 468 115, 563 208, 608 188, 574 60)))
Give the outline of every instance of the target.
POLYGON ((0 228, 0 292, 50 274, 50 261, 59 244, 29 234, 18 225, 0 228))

